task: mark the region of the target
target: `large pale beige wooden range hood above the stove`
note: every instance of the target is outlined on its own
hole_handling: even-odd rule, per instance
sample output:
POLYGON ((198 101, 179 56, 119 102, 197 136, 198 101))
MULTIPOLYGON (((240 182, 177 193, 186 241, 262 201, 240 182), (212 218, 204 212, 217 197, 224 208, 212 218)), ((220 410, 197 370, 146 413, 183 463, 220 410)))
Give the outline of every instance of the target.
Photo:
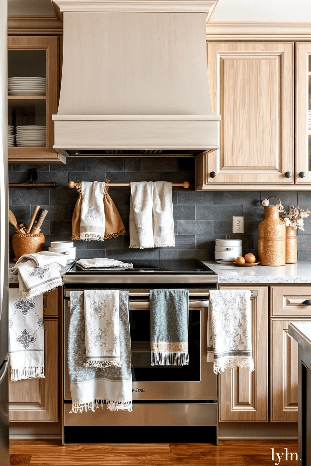
POLYGON ((54 0, 63 12, 54 149, 65 157, 219 148, 206 22, 218 0, 54 0))

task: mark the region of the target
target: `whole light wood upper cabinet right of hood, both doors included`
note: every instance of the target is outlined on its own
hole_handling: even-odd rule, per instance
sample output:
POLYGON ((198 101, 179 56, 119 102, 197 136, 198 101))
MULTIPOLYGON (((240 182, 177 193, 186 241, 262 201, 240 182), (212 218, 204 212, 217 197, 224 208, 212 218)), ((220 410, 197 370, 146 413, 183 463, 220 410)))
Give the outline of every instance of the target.
POLYGON ((294 46, 294 42, 207 43, 213 111, 221 115, 221 149, 196 159, 197 190, 307 189, 311 44, 297 44, 296 95, 294 46))

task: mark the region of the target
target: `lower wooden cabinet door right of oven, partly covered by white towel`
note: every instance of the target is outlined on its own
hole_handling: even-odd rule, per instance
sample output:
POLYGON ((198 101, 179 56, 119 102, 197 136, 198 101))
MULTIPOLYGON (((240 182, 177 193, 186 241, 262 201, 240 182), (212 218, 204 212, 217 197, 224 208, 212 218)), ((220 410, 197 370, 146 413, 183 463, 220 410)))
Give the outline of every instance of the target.
POLYGON ((227 368, 220 375, 219 421, 268 422, 268 287, 219 286, 251 289, 252 350, 255 370, 227 368))

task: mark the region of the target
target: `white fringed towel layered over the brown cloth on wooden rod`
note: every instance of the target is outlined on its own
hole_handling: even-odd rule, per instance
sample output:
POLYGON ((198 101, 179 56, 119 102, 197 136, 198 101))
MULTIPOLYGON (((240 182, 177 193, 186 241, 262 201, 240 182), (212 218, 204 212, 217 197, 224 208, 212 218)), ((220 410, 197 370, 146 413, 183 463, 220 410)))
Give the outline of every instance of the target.
POLYGON ((105 212, 104 212, 105 183, 100 181, 83 181, 81 183, 81 218, 80 240, 104 241, 105 212))

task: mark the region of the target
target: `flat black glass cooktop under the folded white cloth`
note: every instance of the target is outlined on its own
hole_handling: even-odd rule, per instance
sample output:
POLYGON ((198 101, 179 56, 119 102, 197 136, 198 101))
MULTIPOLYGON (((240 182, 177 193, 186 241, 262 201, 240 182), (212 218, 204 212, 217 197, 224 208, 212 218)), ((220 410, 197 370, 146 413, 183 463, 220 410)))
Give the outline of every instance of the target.
POLYGON ((83 268, 76 262, 66 272, 67 275, 73 274, 210 274, 216 275, 213 270, 207 267, 203 262, 196 259, 181 260, 124 260, 133 264, 132 268, 123 267, 92 267, 83 268))

